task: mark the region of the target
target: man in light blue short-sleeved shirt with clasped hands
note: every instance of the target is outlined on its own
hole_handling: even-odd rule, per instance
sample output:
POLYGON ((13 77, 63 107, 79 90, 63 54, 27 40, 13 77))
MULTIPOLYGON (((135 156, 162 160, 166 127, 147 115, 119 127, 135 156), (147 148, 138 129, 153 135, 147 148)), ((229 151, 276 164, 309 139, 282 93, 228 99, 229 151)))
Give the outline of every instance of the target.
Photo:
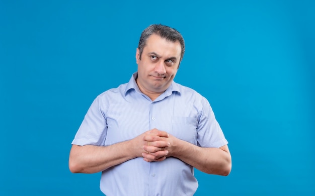
POLYGON ((194 168, 228 175, 231 156, 208 101, 173 81, 185 52, 182 35, 150 25, 130 81, 100 94, 72 142, 71 172, 102 171, 111 195, 193 195, 194 168))

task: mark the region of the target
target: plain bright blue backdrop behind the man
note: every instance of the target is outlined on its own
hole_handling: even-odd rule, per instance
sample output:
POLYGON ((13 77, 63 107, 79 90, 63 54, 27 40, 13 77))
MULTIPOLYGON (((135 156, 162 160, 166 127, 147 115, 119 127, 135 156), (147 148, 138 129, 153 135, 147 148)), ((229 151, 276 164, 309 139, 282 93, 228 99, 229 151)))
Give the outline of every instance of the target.
POLYGON ((195 195, 315 194, 314 1, 0 1, 0 195, 102 195, 72 174, 71 141, 95 97, 136 71, 140 33, 179 30, 175 81, 210 102, 229 176, 195 195))

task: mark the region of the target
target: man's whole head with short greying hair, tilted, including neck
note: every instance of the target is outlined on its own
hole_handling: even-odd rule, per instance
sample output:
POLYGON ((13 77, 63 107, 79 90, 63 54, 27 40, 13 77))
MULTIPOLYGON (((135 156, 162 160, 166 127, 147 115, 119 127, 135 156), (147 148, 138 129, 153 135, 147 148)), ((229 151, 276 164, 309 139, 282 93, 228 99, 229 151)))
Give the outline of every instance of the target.
POLYGON ((137 84, 142 93, 155 100, 172 83, 185 51, 181 34, 167 26, 146 28, 136 51, 137 84))

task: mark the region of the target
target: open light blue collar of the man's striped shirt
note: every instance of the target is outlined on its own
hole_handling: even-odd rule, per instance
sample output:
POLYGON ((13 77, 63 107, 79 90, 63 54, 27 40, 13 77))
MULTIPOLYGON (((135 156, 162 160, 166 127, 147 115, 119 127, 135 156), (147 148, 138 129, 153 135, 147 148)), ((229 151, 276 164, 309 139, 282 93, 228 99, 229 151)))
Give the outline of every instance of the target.
MULTIPOLYGON (((137 91, 139 93, 142 93, 140 91, 138 85, 137 85, 137 82, 136 82, 137 77, 138 77, 138 72, 135 72, 132 74, 129 82, 126 85, 125 96, 131 91, 131 89, 134 89, 135 91, 137 91)), ((179 84, 174 82, 174 81, 172 81, 170 87, 168 87, 168 89, 166 89, 166 91, 163 94, 165 94, 165 96, 169 96, 173 92, 178 92, 179 94, 181 94, 179 84)))

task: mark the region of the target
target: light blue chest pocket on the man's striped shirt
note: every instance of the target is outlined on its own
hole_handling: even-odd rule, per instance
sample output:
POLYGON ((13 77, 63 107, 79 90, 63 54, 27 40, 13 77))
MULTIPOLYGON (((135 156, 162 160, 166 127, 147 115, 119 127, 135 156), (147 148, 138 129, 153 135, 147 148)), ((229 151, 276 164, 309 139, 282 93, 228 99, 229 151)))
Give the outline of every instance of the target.
POLYGON ((198 119, 192 117, 178 117, 172 119, 172 135, 175 137, 196 144, 198 119))

